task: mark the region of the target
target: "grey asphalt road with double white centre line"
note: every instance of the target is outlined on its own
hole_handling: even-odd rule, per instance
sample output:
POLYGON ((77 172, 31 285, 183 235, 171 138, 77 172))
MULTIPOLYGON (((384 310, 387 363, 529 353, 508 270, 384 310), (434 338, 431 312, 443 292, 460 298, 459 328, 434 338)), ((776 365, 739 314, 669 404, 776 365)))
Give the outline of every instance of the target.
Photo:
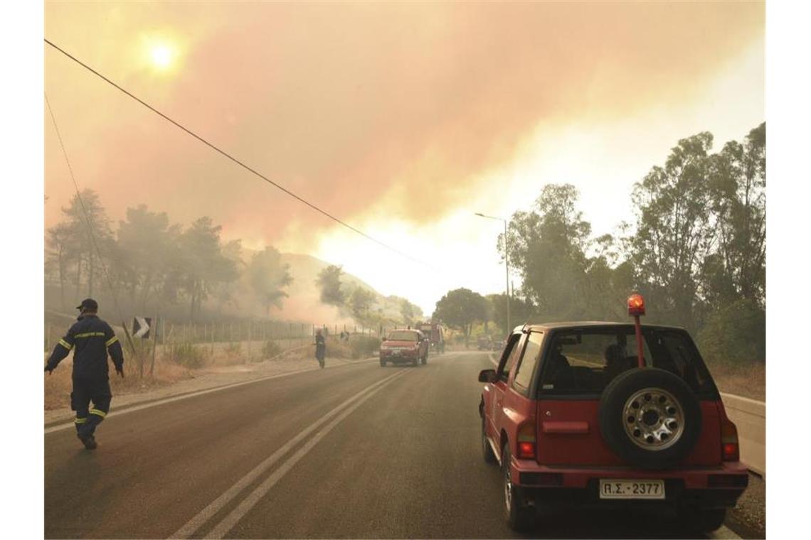
MULTIPOLYGON (((481 458, 487 367, 446 353, 192 395, 111 415, 92 452, 49 430, 45 538, 522 538, 481 458)), ((575 511, 534 536, 702 538, 684 526, 575 511)))

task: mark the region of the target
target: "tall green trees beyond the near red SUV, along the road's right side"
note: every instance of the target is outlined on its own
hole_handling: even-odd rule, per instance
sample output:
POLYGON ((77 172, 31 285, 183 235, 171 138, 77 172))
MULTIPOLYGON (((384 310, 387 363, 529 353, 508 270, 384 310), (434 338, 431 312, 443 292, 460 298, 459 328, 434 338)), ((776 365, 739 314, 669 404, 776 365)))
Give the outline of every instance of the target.
MULTIPOLYGON (((765 361, 766 123, 712 148, 709 132, 681 139, 633 185, 616 235, 592 235, 573 185, 544 185, 497 240, 521 278, 513 324, 624 321, 625 299, 638 291, 646 322, 687 328, 708 357, 765 361)), ((434 317, 463 332, 491 320, 506 333, 505 302, 457 289, 434 317)))

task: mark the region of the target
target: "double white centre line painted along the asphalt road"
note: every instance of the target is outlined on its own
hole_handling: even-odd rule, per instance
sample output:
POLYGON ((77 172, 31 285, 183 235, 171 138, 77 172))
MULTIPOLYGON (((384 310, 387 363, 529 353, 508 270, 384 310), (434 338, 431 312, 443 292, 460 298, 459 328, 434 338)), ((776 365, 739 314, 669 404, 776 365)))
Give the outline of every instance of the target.
MULTIPOLYGON (((315 423, 312 423, 310 427, 307 427, 302 432, 298 433, 297 436, 294 436, 294 438, 288 441, 284 446, 282 446, 276 452, 272 453, 270 457, 262 461, 258 466, 255 466, 250 472, 248 472, 245 476, 240 478, 237 483, 235 483, 232 487, 226 490, 222 495, 217 497, 217 499, 213 500, 212 503, 208 504, 207 507, 203 508, 203 510, 201 510, 195 517, 192 517, 191 520, 189 520, 186 525, 183 525, 180 529, 178 529, 176 533, 172 534, 169 538, 190 538, 191 535, 195 534, 195 532, 198 529, 200 529, 200 527, 205 525, 205 523, 209 519, 211 519, 212 516, 214 516, 214 514, 216 514, 222 508, 224 508, 226 504, 229 504, 232 500, 234 500, 243 490, 245 490, 245 488, 247 488, 252 482, 254 482, 255 479, 260 476, 260 474, 263 474, 265 471, 267 471, 271 466, 273 466, 277 461, 279 461, 281 457, 283 457, 286 453, 290 452, 290 450, 293 449, 296 444, 300 443, 305 437, 310 436, 311 433, 315 432, 315 430, 321 427, 322 424, 326 423, 329 419, 333 418, 333 416, 341 413, 341 410, 346 409, 346 407, 350 407, 348 412, 346 412, 344 415, 341 415, 337 419, 337 421, 330 423, 328 428, 324 429, 324 431, 322 432, 319 432, 319 434, 317 434, 314 437, 313 440, 317 442, 317 440, 320 440, 320 438, 323 435, 325 435, 329 430, 331 430, 335 426, 335 424, 337 424, 337 422, 340 422, 341 419, 344 419, 346 415, 348 415, 351 411, 355 410, 357 408, 357 405, 365 401, 367 398, 371 397, 372 394, 376 393, 378 390, 383 388, 384 385, 387 385, 389 382, 393 381, 398 376, 405 375, 405 373, 407 373, 407 371, 400 371, 382 379, 381 381, 377 381, 375 384, 370 385, 368 388, 363 389, 360 392, 354 394, 354 396, 347 399, 345 402, 342 402, 340 405, 336 406, 333 410, 330 410, 326 415, 318 419, 315 423), (353 406, 353 403, 355 404, 355 406, 353 406)), ((313 445, 311 443, 312 440, 304 448, 307 448, 307 450, 309 450, 313 445)), ((298 453, 295 453, 294 457, 290 457, 288 461, 285 461, 285 463, 280 467, 279 470, 284 469, 285 466, 287 466, 287 468, 284 469, 285 472, 289 470, 290 467, 293 466, 292 464, 295 463, 295 461, 298 461, 298 459, 303 457, 303 454, 301 453, 302 450, 299 450, 298 453), (299 456, 299 454, 301 455, 299 456), (291 460, 294 461, 292 461, 291 463, 291 460)), ((277 473, 278 470, 276 473, 274 473, 274 475, 276 475, 277 473)), ((274 478, 274 476, 271 476, 271 478, 274 478)), ((281 478, 281 475, 279 475, 277 478, 281 478)), ((265 483, 267 483, 267 480, 265 481, 265 483)), ((265 484, 263 483, 262 486, 264 485, 265 484)), ((251 504, 251 506, 253 506, 253 504, 251 504)), ((238 508, 242 508, 242 504, 238 508)), ((231 517, 233 514, 234 512, 231 512, 231 514, 229 514, 229 516, 226 517, 225 519, 226 520, 229 519, 229 517, 231 517)), ((227 533, 228 531, 226 530, 225 532, 227 533)))

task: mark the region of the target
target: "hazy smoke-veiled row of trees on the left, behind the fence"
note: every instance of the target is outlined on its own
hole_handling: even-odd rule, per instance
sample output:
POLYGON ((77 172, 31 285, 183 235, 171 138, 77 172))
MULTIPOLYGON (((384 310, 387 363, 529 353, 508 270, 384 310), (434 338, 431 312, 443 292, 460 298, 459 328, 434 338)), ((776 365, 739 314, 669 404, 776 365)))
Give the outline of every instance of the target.
POLYGON ((224 242, 221 228, 208 216, 183 227, 142 204, 128 208, 114 229, 98 193, 85 189, 46 231, 45 277, 58 284, 62 309, 66 295, 75 301, 101 292, 140 313, 185 303, 195 321, 207 300, 233 307, 240 283, 255 299, 249 310, 281 308, 293 281, 281 253, 266 246, 244 261, 241 241, 224 242))

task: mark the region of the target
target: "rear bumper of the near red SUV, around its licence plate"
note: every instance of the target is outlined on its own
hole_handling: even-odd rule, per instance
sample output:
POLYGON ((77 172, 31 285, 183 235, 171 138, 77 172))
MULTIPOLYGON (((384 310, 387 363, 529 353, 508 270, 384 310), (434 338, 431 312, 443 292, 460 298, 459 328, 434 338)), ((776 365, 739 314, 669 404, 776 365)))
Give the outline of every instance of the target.
POLYGON ((642 470, 632 467, 542 466, 535 461, 513 458, 513 485, 534 499, 560 504, 599 504, 601 506, 679 504, 701 508, 735 506, 749 485, 749 472, 740 462, 715 467, 687 467, 642 470), (599 496, 601 478, 624 480, 659 479, 665 484, 663 500, 603 500, 599 496))

